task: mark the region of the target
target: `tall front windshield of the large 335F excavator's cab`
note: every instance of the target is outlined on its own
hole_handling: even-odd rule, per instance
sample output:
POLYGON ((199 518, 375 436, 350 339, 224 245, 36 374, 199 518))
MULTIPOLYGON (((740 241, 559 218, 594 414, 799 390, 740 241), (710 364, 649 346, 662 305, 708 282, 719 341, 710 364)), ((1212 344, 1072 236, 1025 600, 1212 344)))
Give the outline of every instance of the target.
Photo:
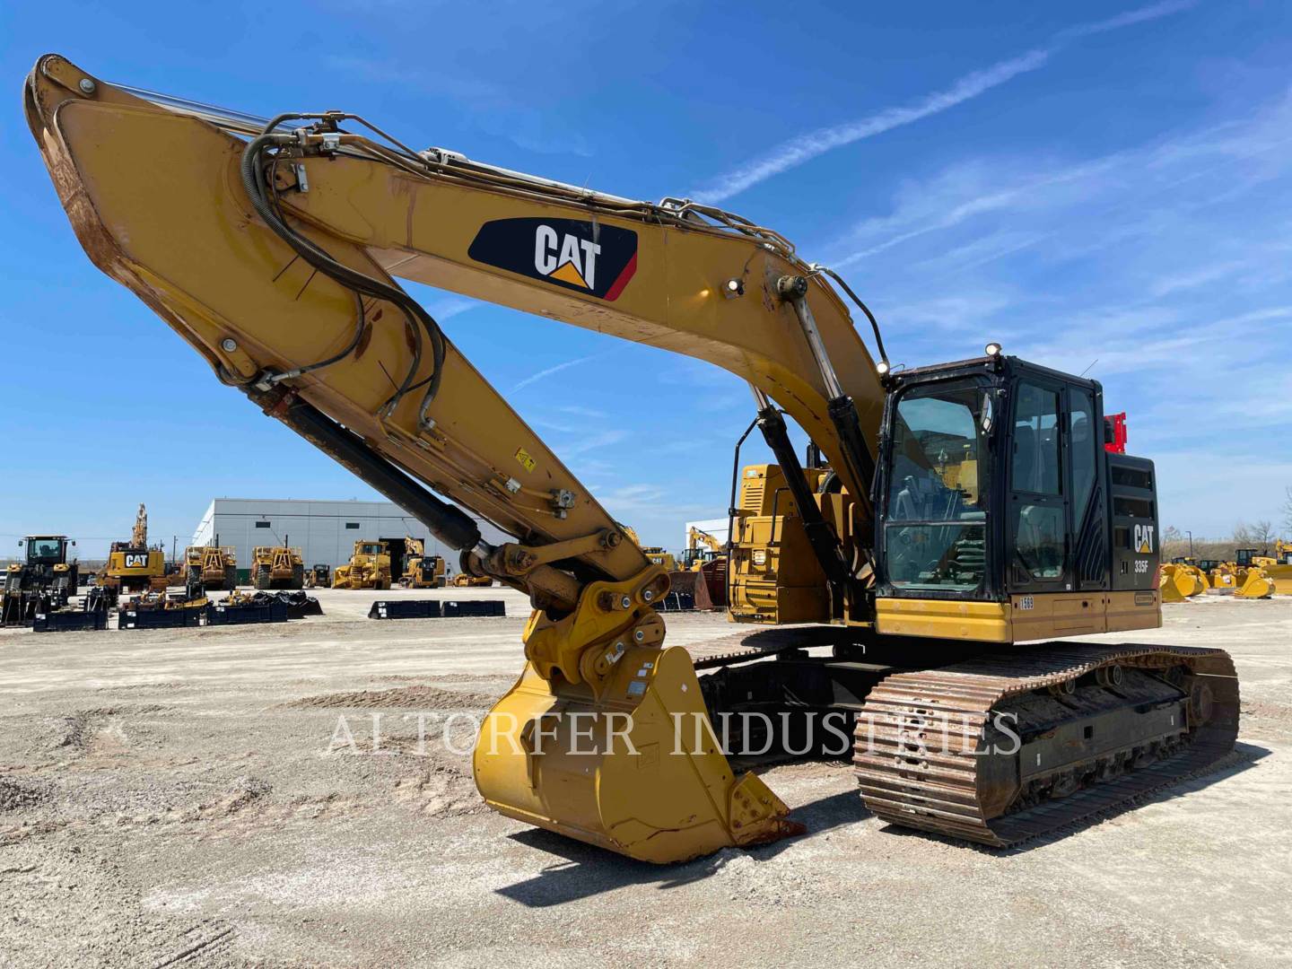
POLYGON ((990 395, 970 381, 915 386, 898 401, 884 526, 895 588, 982 585, 990 426, 990 395))

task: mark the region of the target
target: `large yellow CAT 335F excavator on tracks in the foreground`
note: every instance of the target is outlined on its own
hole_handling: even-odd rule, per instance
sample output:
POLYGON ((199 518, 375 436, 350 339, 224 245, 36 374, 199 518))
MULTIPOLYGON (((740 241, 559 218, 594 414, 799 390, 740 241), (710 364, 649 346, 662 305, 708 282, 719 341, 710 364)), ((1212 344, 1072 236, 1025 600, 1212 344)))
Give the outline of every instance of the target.
MULTIPOLYGON (((685 199, 415 150, 340 111, 252 119, 58 56, 35 65, 25 103, 99 269, 224 384, 460 549, 464 572, 528 596, 525 669, 473 761, 495 810, 651 862, 774 841, 801 826, 726 751, 760 730, 788 747, 835 717, 876 815, 1008 845, 1233 748, 1224 651, 1047 642, 1162 621, 1154 466, 1105 451, 1097 382, 996 345, 891 368, 837 274, 685 199), (813 625, 758 629, 699 660, 667 646, 654 606, 667 570, 397 275, 748 381, 751 432, 776 465, 743 490, 752 537, 733 567, 749 593, 733 615, 789 621, 767 607, 780 581, 769 563, 792 565, 792 541, 817 570, 793 609, 813 625), (787 415, 818 468, 791 447, 787 415), (459 505, 512 540, 487 541, 459 505)), ((652 416, 643 397, 643 455, 652 416)))

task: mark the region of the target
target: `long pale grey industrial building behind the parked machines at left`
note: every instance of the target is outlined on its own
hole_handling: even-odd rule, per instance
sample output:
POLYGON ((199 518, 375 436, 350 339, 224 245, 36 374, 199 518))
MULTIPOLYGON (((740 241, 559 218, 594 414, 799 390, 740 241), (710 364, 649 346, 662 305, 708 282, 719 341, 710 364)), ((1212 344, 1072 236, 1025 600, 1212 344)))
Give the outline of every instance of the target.
MULTIPOLYGON (((475 519, 486 541, 509 539, 475 519)), ((457 571, 457 552, 432 537, 426 526, 393 501, 309 501, 300 499, 217 497, 193 532, 194 545, 233 545, 238 568, 251 563, 256 545, 296 545, 305 567, 350 561, 354 543, 366 539, 421 539, 429 554, 443 556, 457 571)))

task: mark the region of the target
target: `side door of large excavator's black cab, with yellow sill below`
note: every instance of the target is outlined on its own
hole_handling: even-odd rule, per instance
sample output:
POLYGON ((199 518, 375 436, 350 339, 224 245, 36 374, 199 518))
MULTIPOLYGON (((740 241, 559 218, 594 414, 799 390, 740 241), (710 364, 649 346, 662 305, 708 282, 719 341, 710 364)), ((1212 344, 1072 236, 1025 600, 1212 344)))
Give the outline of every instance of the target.
POLYGON ((1070 399, 1070 388, 1025 372, 1013 388, 1012 447, 1005 488, 1006 566, 1012 638, 1041 640, 1103 632, 1102 590, 1085 589, 1074 540, 1094 481, 1093 401, 1070 399), (1076 413, 1081 420, 1078 420, 1076 413), (1081 453, 1074 461, 1075 430, 1081 453), (1081 510, 1075 505, 1081 501, 1081 510))

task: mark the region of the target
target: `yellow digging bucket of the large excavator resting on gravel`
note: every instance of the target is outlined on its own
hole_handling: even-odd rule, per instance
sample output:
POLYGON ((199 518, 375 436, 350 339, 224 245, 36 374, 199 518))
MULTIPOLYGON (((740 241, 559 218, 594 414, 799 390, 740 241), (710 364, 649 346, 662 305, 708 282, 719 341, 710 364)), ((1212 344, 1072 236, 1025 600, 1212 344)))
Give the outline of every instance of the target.
POLYGON ((486 717, 475 784, 497 811, 647 862, 801 833, 712 734, 690 655, 634 647, 599 695, 527 664, 486 717))

